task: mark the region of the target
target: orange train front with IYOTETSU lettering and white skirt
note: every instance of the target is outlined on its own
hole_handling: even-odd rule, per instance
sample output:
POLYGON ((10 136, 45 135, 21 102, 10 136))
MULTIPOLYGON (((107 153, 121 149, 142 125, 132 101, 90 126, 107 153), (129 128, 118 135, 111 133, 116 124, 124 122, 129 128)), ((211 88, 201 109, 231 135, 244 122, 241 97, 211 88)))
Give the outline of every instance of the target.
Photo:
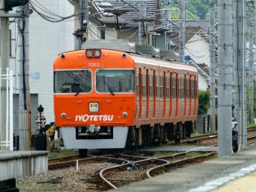
POLYGON ((129 54, 87 49, 54 61, 54 115, 67 149, 124 148, 135 116, 129 54))

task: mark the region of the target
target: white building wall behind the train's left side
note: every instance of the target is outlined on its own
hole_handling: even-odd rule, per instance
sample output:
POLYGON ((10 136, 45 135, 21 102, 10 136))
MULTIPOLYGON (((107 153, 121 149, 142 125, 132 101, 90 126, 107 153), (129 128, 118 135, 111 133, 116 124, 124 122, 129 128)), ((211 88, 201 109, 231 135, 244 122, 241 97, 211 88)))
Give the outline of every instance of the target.
MULTIPOLYGON (((60 16, 70 16, 74 7, 68 1, 39 1, 48 10, 60 16)), ((39 10, 39 9, 38 9, 39 10)), ((39 10, 42 12, 42 10, 39 10)), ((29 54, 31 94, 39 95, 39 104, 45 108, 47 123, 54 121, 53 106, 53 62, 58 54, 74 50, 74 18, 64 22, 48 22, 35 11, 29 18, 29 54)), ((10 26, 15 36, 16 26, 10 26)), ((17 39, 17 38, 16 38, 17 39)), ((16 60, 10 60, 10 66, 16 72, 16 89, 19 89, 19 50, 16 60), (16 64, 15 64, 16 63, 16 64), (16 65, 16 70, 14 69, 16 65)), ((33 121, 33 120, 32 120, 33 121)))

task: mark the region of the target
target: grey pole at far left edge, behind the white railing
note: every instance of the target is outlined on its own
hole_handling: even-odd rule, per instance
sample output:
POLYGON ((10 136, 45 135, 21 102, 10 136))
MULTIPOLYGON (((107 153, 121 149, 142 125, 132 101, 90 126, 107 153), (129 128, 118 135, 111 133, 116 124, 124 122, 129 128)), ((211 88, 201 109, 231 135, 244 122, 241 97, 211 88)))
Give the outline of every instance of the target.
MULTIPOLYGON (((4 11, 4 0, 0 0, 0 13, 7 13, 4 11)), ((10 67, 10 35, 9 35, 9 17, 1 17, 1 74, 7 74, 6 68, 10 67)), ((0 111, 0 141, 7 141, 6 138, 6 93, 7 93, 6 80, 1 80, 1 111, 0 111)), ((8 147, 1 147, 1 150, 8 150, 8 147)))

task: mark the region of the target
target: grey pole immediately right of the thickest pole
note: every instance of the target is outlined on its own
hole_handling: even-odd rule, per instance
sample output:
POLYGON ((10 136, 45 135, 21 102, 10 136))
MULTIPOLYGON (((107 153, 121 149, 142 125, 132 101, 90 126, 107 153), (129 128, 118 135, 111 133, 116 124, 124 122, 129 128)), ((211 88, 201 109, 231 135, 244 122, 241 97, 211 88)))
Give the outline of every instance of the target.
POLYGON ((238 144, 246 147, 245 6, 234 1, 234 117, 238 122, 238 144))

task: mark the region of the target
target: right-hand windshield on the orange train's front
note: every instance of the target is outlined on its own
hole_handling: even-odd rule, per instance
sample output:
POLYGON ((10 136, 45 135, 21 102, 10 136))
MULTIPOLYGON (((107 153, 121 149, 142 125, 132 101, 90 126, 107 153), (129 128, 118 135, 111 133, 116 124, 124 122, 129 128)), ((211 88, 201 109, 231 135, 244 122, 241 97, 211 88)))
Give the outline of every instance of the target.
POLYGON ((134 71, 131 69, 100 69, 96 72, 97 92, 134 92, 134 71))

